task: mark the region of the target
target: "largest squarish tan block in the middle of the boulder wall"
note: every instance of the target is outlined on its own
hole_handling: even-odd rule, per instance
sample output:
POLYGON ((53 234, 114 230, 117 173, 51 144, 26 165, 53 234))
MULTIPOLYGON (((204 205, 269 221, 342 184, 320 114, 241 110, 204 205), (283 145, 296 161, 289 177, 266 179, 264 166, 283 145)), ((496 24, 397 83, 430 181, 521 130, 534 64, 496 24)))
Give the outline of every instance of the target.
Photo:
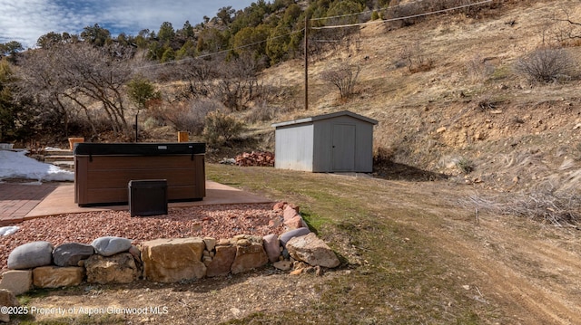
POLYGON ((206 275, 202 238, 156 239, 142 244, 143 276, 153 282, 179 282, 206 275))

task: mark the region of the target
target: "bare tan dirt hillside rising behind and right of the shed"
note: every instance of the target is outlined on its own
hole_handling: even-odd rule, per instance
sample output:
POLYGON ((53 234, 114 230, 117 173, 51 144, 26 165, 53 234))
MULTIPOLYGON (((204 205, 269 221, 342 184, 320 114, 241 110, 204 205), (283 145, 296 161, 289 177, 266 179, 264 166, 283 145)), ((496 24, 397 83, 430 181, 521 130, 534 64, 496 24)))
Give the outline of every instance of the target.
MULTIPOLYGON (((556 46, 565 30, 581 34, 578 26, 560 21, 581 22, 581 5, 498 3, 478 14, 428 16, 398 29, 363 26, 350 43, 311 59, 310 110, 275 119, 352 110, 379 120, 374 146, 392 162, 502 191, 530 191, 547 182, 559 190, 576 187, 578 64, 563 80, 548 84, 527 81, 514 64, 544 44, 556 46), (430 68, 410 72, 402 57, 406 49, 430 68), (334 62, 362 67, 358 95, 350 100, 339 100, 339 91, 320 79, 334 62), (458 161, 470 164, 468 176, 458 161)), ((581 48, 575 44, 564 51, 578 62, 581 48)), ((281 64, 264 76, 301 89, 302 62, 281 64)), ((294 102, 303 105, 300 96, 294 102)))

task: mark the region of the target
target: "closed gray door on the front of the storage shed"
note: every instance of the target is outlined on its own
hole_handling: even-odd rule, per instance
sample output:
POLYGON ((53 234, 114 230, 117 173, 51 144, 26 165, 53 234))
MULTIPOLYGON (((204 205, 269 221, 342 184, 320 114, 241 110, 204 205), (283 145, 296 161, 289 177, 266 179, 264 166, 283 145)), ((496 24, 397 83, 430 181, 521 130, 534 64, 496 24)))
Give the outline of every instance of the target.
POLYGON ((355 170, 355 125, 333 125, 333 171, 355 170))

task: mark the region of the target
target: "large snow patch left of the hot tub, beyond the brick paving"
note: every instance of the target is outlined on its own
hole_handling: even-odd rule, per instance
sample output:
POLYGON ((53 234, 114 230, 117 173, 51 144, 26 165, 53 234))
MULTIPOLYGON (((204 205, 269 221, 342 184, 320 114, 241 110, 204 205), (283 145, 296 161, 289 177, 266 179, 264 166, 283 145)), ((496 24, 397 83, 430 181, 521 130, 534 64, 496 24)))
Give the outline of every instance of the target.
POLYGON ((0 150, 0 179, 34 179, 38 183, 74 181, 74 172, 26 157, 26 153, 25 150, 18 152, 0 150))

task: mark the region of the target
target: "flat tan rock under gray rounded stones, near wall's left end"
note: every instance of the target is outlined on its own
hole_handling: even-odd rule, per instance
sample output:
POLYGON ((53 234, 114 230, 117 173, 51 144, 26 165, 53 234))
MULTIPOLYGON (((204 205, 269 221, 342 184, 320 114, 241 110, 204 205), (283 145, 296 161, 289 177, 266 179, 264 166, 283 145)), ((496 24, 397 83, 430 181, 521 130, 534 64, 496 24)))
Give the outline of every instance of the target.
POLYGON ((60 288, 79 285, 84 279, 84 268, 78 266, 41 266, 33 270, 34 286, 60 288))

